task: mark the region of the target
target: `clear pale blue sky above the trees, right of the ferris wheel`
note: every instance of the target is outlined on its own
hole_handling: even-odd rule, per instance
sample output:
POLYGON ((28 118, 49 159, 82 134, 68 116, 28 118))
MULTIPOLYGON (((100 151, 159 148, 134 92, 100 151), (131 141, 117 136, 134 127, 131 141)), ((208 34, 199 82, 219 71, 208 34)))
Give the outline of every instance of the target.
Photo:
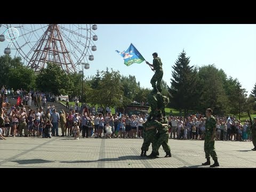
MULTIPOLYGON (((146 62, 127 67, 115 50, 126 51, 131 43, 142 56, 153 62, 157 52, 163 62, 163 80, 170 86, 172 66, 184 49, 190 65, 213 64, 227 76, 238 78, 242 87, 251 92, 256 83, 256 25, 101 25, 95 31, 98 41, 94 60, 85 76, 95 75, 97 69, 113 68, 122 75, 134 75, 143 87, 151 87, 154 75, 146 62)), ((0 55, 3 55, 1 47, 0 55)))

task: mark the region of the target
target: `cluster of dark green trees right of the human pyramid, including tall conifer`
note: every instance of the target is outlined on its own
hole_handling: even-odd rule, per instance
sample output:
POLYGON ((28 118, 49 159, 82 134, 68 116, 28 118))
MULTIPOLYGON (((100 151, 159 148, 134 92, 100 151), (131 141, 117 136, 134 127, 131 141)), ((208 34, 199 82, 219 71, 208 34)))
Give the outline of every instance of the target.
POLYGON ((238 116, 249 109, 256 110, 256 83, 247 95, 237 78, 228 77, 214 64, 197 67, 189 62, 190 57, 183 50, 172 66, 170 107, 183 110, 185 116, 189 110, 204 114, 206 108, 212 108, 214 114, 238 116))

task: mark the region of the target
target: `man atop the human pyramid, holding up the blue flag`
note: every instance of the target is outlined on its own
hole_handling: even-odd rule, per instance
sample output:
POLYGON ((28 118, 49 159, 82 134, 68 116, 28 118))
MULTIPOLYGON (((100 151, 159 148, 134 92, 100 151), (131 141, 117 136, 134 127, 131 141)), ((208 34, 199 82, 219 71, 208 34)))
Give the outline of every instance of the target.
POLYGON ((157 91, 159 91, 160 93, 162 92, 162 88, 161 88, 161 82, 162 82, 162 78, 163 78, 163 68, 162 68, 162 61, 158 56, 157 53, 153 53, 153 65, 150 64, 148 61, 146 61, 146 63, 151 66, 154 67, 152 70, 155 71, 155 74, 153 75, 153 77, 151 78, 151 85, 154 89, 154 92, 157 93, 157 91), (157 83, 156 83, 157 82, 157 83))

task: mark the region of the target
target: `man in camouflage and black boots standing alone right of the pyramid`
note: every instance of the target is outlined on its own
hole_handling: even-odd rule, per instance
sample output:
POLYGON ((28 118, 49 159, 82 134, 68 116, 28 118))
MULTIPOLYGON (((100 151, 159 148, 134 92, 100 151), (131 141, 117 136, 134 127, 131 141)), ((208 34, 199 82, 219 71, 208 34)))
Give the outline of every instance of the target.
POLYGON ((212 116, 212 109, 206 109, 206 123, 205 123, 205 136, 204 136, 204 152, 205 158, 207 161, 202 163, 202 165, 210 165, 210 155, 214 161, 214 164, 210 165, 210 167, 219 166, 218 157, 214 148, 214 137, 215 137, 215 129, 216 128, 216 120, 212 116))

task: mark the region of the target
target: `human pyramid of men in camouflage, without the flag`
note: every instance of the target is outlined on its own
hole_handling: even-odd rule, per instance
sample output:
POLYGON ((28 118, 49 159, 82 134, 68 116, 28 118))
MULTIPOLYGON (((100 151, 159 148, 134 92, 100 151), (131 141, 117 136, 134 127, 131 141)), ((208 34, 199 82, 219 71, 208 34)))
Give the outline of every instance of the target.
POLYGON ((153 86, 153 91, 148 95, 151 111, 147 121, 143 123, 143 144, 140 156, 156 158, 159 155, 158 150, 162 145, 166 153, 165 157, 171 157, 171 149, 168 145, 170 125, 165 116, 165 107, 169 103, 169 99, 161 94, 162 61, 157 57, 157 53, 153 53, 153 58, 153 65, 146 62, 149 66, 154 67, 152 70, 155 70, 155 74, 150 82, 153 86), (152 143, 152 153, 147 156, 150 143, 152 143))

